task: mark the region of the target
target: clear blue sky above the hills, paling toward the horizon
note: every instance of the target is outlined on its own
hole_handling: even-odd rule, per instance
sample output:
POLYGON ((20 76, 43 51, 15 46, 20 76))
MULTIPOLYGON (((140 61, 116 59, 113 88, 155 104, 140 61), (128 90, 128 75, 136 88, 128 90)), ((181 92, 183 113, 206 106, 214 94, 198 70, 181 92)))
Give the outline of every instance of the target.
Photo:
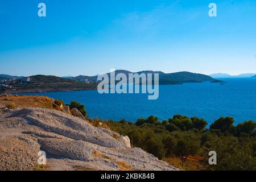
POLYGON ((256 72, 255 30, 255 0, 0 1, 0 73, 256 72))

